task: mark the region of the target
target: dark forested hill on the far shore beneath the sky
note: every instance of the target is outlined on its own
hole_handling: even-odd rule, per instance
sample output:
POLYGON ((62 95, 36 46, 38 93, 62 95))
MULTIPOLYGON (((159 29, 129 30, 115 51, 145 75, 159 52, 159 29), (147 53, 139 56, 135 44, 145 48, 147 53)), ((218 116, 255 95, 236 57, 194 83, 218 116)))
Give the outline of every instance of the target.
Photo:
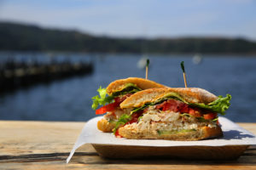
POLYGON ((79 31, 0 22, 0 50, 256 54, 256 42, 243 38, 222 37, 155 39, 96 37, 79 31))

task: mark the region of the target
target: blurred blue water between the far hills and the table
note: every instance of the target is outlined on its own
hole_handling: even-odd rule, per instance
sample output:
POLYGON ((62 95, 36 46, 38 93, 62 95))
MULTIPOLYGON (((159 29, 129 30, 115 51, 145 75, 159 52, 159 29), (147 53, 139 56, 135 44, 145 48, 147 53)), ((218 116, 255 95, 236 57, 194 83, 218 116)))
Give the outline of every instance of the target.
MULTIPOLYGON (((148 78, 170 87, 183 87, 180 69, 183 60, 189 87, 205 88, 216 95, 231 94, 226 117, 234 122, 256 122, 256 56, 205 55, 200 65, 195 65, 191 56, 149 55, 148 78)), ((69 54, 68 57, 92 60, 94 72, 0 94, 0 119, 87 121, 95 116, 90 109, 91 97, 99 86, 107 87, 115 79, 145 74, 137 68, 141 55, 69 54)))

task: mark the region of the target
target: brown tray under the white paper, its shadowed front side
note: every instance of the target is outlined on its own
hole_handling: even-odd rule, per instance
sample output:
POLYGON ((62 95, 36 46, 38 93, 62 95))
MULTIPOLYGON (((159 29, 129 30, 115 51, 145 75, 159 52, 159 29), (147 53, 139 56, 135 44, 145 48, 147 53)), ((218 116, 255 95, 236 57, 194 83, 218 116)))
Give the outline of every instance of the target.
POLYGON ((225 146, 130 146, 116 144, 92 144, 97 153, 109 159, 165 157, 189 160, 234 160, 249 145, 225 146))

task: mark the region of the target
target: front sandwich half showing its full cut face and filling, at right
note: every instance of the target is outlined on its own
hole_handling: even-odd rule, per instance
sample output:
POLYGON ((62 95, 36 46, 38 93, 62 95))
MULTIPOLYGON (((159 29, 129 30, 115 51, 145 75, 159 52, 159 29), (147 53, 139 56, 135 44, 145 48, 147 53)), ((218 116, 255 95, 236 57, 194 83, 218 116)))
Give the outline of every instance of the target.
POLYGON ((132 94, 120 108, 130 109, 113 133, 126 139, 201 140, 223 136, 218 113, 230 106, 230 94, 201 88, 151 88, 132 94))

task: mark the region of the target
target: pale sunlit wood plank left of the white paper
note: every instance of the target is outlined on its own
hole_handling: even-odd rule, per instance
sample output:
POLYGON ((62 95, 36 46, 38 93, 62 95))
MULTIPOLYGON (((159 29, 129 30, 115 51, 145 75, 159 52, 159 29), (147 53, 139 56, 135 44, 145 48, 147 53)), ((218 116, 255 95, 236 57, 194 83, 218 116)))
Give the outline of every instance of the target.
POLYGON ((0 156, 69 152, 84 122, 0 121, 0 156))

